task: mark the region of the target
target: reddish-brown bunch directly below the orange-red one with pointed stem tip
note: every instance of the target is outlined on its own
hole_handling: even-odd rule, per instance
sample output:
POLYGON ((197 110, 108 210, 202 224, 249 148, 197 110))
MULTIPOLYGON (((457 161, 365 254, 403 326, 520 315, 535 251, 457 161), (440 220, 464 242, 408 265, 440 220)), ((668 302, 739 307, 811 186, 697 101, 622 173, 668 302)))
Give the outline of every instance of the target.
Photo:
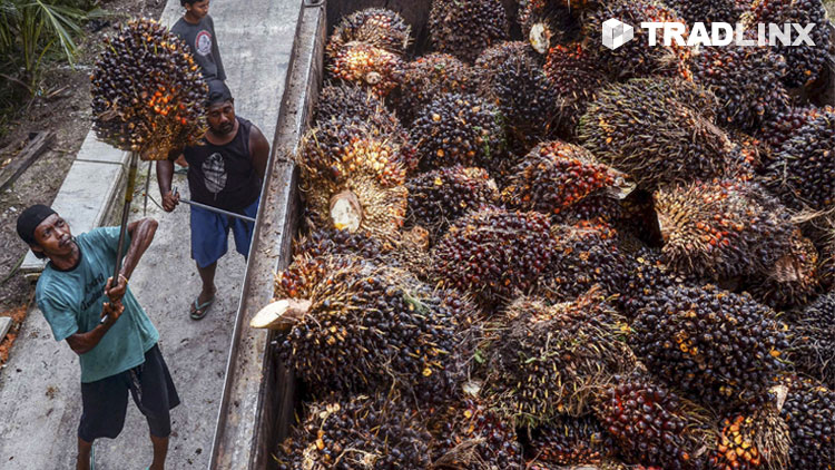
POLYGON ((574 225, 554 225, 551 232, 551 261, 540 277, 537 295, 564 302, 595 285, 607 295, 620 291, 627 261, 618 249, 617 232, 610 225, 581 221, 574 225))

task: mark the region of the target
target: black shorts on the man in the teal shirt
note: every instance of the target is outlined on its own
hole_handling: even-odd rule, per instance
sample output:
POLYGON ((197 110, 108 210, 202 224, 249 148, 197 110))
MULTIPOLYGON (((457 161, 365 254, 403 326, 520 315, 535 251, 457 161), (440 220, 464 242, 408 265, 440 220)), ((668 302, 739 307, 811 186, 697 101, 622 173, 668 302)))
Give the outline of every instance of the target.
POLYGON ((171 433, 169 410, 179 404, 179 396, 156 344, 145 353, 145 363, 81 384, 84 411, 78 437, 86 442, 98 438, 116 439, 125 427, 128 390, 139 411, 147 418, 150 434, 167 438, 171 433))

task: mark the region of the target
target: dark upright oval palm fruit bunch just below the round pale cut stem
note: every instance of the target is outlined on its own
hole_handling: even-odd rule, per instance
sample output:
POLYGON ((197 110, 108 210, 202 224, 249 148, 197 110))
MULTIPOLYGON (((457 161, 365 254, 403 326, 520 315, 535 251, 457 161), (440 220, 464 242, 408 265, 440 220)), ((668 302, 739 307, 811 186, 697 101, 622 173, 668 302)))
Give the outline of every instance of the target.
POLYGON ((482 94, 499 106, 508 134, 525 148, 551 136, 563 112, 554 84, 531 50, 524 42, 502 42, 475 61, 482 94))

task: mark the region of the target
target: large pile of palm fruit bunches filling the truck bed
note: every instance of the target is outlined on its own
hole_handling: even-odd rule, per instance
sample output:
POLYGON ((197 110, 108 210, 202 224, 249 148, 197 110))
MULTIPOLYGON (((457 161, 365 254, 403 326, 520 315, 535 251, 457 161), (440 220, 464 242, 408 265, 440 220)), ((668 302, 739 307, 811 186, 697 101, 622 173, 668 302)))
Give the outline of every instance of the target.
POLYGON ((332 31, 252 322, 302 384, 277 468, 835 468, 821 1, 507 3, 433 1, 422 56, 393 11, 332 31), (816 46, 609 50, 609 18, 816 46))

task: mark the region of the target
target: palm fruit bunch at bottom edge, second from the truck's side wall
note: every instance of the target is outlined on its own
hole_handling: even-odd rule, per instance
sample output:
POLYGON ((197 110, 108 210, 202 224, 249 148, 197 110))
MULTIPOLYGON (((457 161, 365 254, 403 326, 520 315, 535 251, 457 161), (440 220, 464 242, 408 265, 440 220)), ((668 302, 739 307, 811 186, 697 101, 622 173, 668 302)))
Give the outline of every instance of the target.
POLYGON ((475 398, 439 407, 430 420, 439 470, 522 470, 517 430, 475 398))

